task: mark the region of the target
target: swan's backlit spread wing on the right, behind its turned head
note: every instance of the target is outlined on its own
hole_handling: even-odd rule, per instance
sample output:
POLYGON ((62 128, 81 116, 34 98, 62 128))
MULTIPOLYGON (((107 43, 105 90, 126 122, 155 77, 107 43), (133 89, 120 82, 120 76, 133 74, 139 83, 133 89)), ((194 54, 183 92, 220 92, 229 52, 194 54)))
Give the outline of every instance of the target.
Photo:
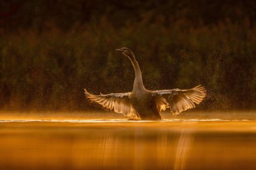
POLYGON ((205 87, 198 85, 193 89, 181 90, 160 90, 152 91, 152 95, 156 97, 156 104, 159 111, 170 108, 172 114, 180 114, 181 112, 195 108, 195 103, 199 104, 206 95, 205 87))

